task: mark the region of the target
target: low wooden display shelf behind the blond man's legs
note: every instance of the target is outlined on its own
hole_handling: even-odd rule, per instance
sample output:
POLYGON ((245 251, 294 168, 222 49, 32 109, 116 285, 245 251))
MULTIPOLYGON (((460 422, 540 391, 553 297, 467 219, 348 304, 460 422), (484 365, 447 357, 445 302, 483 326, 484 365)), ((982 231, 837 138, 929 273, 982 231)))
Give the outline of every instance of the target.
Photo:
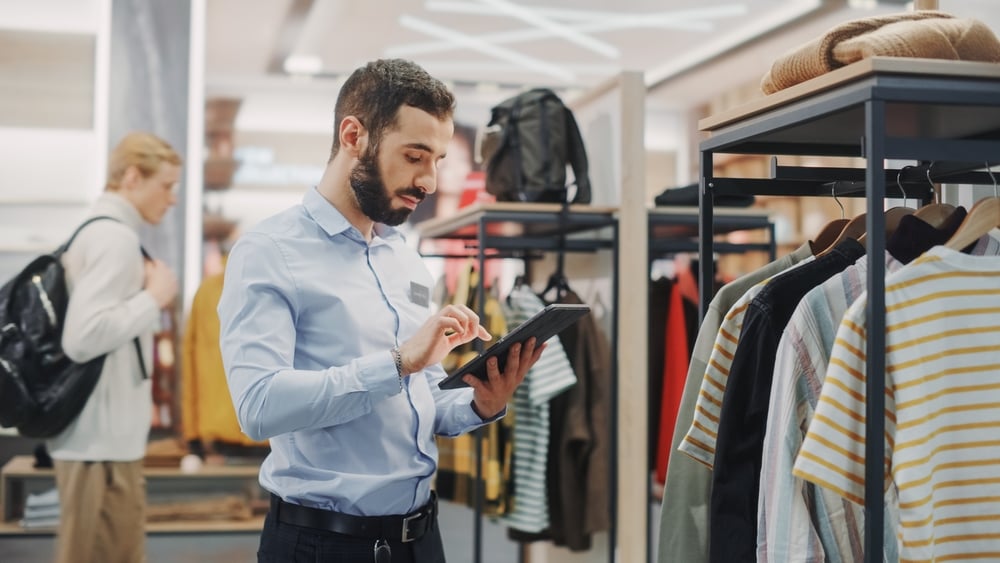
MULTIPOLYGON (((159 493, 183 495, 218 494, 231 491, 260 496, 263 489, 257 484, 258 468, 251 465, 203 465, 194 472, 182 472, 174 467, 146 467, 143 475, 147 481, 147 497, 159 493)), ((25 499, 29 493, 41 492, 55 486, 55 471, 35 468, 32 456, 14 456, 0 470, 0 535, 46 535, 54 528, 24 528, 19 523, 25 499)), ((222 533, 260 532, 263 516, 248 520, 178 519, 146 524, 150 534, 171 533, 222 533)))

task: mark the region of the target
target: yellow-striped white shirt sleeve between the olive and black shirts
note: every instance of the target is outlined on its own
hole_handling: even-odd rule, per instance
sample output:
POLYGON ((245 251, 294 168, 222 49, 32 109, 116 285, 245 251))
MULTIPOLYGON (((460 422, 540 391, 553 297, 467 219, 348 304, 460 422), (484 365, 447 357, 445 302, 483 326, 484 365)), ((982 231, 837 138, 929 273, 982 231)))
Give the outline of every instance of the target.
MULTIPOLYGON (((815 257, 810 256, 791 268, 797 268, 813 260, 815 257)), ((684 441, 677 448, 709 468, 715 461, 715 442, 719 435, 722 396, 726 392, 726 382, 729 380, 733 354, 736 353, 736 344, 739 342, 740 331, 743 329, 743 318, 746 316, 750 302, 764 289, 764 285, 770 279, 768 278, 748 289, 722 319, 722 325, 719 327, 719 334, 715 338, 715 346, 712 348, 712 355, 709 356, 708 367, 701 382, 701 390, 698 392, 698 401, 695 403, 691 428, 688 429, 684 441)))

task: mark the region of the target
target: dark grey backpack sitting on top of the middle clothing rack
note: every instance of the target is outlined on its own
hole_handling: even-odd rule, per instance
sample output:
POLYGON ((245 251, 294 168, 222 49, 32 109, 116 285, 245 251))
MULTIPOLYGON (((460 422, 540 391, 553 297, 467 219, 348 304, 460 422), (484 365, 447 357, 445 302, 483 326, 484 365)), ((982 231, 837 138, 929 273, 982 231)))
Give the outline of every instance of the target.
POLYGON ((486 191, 498 201, 566 202, 569 165, 576 184, 570 203, 590 203, 580 129, 552 90, 535 88, 493 107, 480 156, 486 163, 486 191))

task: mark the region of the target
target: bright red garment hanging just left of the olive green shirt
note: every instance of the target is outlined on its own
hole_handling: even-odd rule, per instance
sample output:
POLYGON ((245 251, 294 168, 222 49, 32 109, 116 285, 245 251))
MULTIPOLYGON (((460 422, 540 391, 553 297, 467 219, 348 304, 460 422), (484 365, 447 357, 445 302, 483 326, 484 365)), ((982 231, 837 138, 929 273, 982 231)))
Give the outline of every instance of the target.
POLYGON ((690 361, 687 343, 687 322, 684 319, 684 302, 680 284, 670 288, 670 306, 667 309, 667 330, 663 342, 663 394, 660 402, 659 444, 656 448, 656 482, 660 485, 667 480, 667 463, 670 460, 670 444, 677 422, 684 382, 690 361))

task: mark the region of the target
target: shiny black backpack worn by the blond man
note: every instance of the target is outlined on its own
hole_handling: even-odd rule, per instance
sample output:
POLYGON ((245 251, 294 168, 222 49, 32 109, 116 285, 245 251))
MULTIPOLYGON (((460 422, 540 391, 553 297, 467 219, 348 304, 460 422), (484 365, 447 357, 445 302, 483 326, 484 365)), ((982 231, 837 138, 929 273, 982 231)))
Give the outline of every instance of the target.
MULTIPOLYGON (((103 355, 78 364, 63 352, 69 292, 60 260, 76 235, 101 219, 117 221, 88 219, 55 252, 39 256, 0 288, 0 426, 16 426, 22 436, 62 432, 83 410, 104 368, 103 355)), ((134 342, 146 378, 139 338, 134 342)))

